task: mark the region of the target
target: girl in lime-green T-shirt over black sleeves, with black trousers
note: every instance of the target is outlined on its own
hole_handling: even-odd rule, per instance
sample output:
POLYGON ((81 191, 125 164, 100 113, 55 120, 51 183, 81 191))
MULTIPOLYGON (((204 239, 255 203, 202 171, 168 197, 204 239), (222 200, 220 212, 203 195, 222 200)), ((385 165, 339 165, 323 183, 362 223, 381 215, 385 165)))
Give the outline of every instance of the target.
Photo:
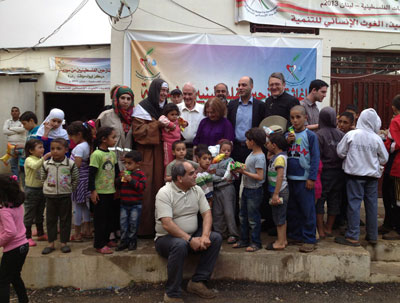
POLYGON ((100 127, 96 135, 97 149, 90 156, 89 190, 94 204, 94 248, 101 254, 112 254, 109 241, 112 223, 112 209, 115 193, 115 178, 119 174, 117 156, 109 147, 114 147, 117 134, 112 127, 100 127))

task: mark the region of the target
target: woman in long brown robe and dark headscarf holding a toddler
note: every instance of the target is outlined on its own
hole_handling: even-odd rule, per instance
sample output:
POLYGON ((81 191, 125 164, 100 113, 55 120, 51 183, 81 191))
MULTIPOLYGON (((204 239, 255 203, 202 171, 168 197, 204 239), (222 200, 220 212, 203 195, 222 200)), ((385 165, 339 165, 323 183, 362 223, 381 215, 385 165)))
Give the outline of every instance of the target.
POLYGON ((168 83, 162 79, 155 79, 150 84, 148 97, 139 103, 133 113, 133 137, 137 143, 137 150, 143 155, 141 168, 147 177, 139 226, 139 235, 142 236, 154 234, 155 196, 164 184, 161 143, 163 125, 158 122, 158 118, 167 104, 167 97, 168 83))

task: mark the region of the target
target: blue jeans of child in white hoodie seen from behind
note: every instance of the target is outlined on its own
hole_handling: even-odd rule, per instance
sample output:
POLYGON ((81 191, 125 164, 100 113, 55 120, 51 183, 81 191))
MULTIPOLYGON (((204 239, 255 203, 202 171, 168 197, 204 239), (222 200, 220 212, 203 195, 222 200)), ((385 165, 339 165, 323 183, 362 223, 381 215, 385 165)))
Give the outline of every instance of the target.
POLYGON ((350 176, 347 180, 347 231, 346 238, 360 238, 360 208, 364 200, 367 240, 378 239, 378 179, 350 176))

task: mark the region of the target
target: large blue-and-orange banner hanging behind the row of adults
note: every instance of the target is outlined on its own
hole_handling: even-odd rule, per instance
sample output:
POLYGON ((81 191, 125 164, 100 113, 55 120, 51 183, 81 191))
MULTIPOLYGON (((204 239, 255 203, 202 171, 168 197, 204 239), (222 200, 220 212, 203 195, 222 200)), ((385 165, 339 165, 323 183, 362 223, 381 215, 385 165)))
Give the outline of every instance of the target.
POLYGON ((227 84, 229 99, 237 98, 239 79, 250 76, 253 96, 264 100, 270 95, 269 75, 282 72, 286 90, 303 99, 310 82, 321 76, 321 62, 320 39, 127 32, 124 83, 133 89, 136 103, 159 77, 170 91, 193 83, 198 100, 205 101, 220 82, 227 84))

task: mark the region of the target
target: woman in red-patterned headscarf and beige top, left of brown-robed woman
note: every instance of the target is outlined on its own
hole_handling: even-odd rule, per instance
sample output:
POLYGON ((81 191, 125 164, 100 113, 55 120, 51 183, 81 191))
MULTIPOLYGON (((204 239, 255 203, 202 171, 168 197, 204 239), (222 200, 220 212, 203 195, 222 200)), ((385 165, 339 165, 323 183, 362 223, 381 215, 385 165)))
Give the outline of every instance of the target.
POLYGON ((113 88, 112 109, 102 112, 96 121, 96 127, 112 127, 117 133, 114 152, 117 154, 120 171, 124 169, 123 156, 132 150, 132 112, 134 108, 133 91, 128 86, 113 88))

